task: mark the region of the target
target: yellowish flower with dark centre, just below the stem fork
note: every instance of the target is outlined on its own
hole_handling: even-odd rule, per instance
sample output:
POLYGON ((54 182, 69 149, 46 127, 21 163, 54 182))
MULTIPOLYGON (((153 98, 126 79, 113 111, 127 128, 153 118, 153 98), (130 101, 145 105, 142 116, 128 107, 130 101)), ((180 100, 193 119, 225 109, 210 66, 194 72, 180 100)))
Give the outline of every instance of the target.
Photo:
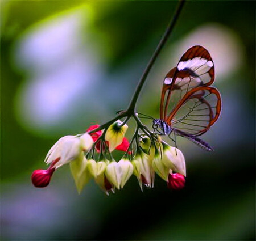
POLYGON ((123 142, 123 137, 125 137, 126 130, 128 126, 123 124, 122 121, 115 121, 106 130, 105 140, 109 142, 109 151, 113 151, 117 146, 121 145, 123 142))

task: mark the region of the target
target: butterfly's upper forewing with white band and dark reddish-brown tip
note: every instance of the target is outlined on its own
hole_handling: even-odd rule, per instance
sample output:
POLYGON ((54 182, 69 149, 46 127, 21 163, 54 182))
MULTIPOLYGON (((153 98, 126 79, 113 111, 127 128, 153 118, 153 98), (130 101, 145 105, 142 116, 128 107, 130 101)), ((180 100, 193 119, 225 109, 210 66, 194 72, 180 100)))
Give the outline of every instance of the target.
POLYGON ((188 49, 180 58, 177 67, 170 70, 164 78, 160 119, 166 121, 167 113, 175 108, 175 105, 170 105, 170 100, 179 103, 193 88, 209 86, 213 81, 214 65, 209 52, 202 46, 188 49))

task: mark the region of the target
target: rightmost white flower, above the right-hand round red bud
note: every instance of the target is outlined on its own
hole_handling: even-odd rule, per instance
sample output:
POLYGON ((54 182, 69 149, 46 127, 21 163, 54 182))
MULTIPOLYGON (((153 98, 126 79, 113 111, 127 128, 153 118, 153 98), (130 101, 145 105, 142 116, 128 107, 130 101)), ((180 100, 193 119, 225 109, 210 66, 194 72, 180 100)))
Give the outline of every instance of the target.
POLYGON ((164 165, 181 175, 186 176, 186 164, 183 153, 176 147, 172 147, 163 143, 163 158, 164 165))

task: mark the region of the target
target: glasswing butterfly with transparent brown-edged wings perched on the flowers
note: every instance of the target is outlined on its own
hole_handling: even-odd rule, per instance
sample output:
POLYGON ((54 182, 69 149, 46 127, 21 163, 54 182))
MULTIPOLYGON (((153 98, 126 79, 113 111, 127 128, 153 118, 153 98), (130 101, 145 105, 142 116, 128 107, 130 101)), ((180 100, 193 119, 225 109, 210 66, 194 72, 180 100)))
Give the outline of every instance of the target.
POLYGON ((213 81, 214 64, 209 52, 198 45, 188 49, 164 78, 160 119, 153 120, 154 132, 169 137, 173 133, 174 139, 170 138, 175 145, 177 135, 212 151, 198 136, 207 132, 220 116, 221 95, 210 86, 213 81))

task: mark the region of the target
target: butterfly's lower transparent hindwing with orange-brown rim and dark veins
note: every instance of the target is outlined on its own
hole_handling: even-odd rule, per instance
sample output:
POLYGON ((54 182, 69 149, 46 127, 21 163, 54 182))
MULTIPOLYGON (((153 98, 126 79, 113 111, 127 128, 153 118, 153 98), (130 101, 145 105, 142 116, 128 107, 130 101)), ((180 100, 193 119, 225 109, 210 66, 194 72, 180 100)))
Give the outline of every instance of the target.
POLYGON ((167 117, 167 124, 194 136, 205 133, 221 112, 221 96, 214 87, 189 91, 167 117))

